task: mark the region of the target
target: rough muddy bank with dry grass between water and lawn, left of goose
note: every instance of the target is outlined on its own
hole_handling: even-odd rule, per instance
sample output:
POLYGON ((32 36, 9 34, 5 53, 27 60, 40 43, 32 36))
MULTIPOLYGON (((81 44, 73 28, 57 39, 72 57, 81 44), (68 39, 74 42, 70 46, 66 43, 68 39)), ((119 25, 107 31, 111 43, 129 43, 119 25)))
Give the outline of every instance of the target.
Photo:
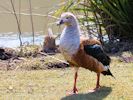
POLYGON ((69 67, 60 53, 44 53, 38 46, 27 46, 23 51, 0 48, 0 70, 41 70, 69 67), (54 57, 56 59, 54 59, 54 57))

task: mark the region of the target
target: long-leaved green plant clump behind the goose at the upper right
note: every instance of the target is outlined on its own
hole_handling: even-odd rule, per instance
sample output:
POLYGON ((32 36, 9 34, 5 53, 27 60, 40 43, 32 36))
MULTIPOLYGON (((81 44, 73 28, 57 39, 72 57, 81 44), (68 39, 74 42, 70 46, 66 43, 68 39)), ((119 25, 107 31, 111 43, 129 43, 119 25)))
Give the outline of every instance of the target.
POLYGON ((81 24, 87 33, 103 41, 106 33, 112 42, 132 40, 133 38, 133 2, 131 0, 68 0, 56 11, 59 15, 63 11, 78 14, 81 24))

